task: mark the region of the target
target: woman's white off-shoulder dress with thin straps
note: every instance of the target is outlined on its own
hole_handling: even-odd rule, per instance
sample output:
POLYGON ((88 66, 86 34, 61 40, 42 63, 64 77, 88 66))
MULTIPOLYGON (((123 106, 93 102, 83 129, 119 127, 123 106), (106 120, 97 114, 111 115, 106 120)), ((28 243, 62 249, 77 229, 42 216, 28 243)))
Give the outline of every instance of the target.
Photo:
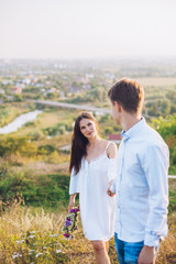
POLYGON ((80 217, 85 237, 108 241, 114 233, 116 198, 109 197, 109 183, 117 175, 117 158, 109 158, 106 151, 90 163, 81 160, 79 173, 73 169, 69 195, 79 193, 80 217))

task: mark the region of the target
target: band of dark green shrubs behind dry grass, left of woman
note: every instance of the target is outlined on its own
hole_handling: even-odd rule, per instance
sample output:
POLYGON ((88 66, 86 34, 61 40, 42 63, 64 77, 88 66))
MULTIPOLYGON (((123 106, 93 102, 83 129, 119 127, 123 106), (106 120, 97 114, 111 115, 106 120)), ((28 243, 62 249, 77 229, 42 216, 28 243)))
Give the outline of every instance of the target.
POLYGON ((6 202, 10 197, 22 194, 25 205, 58 208, 68 204, 69 177, 66 174, 34 175, 24 173, 1 176, 0 194, 6 202))

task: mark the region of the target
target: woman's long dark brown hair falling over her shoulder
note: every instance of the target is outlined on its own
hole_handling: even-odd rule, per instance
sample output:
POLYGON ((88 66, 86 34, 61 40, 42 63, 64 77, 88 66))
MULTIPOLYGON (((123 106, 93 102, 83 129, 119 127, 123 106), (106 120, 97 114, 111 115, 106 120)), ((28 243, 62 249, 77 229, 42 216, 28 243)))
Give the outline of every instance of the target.
POLYGON ((97 120, 89 112, 80 113, 74 127, 74 134, 72 139, 72 153, 70 153, 70 163, 69 163, 69 172, 72 172, 73 167, 75 168, 75 174, 77 174, 80 169, 81 158, 86 156, 88 139, 80 132, 79 123, 82 119, 90 119, 96 124, 96 129, 98 130, 97 120))

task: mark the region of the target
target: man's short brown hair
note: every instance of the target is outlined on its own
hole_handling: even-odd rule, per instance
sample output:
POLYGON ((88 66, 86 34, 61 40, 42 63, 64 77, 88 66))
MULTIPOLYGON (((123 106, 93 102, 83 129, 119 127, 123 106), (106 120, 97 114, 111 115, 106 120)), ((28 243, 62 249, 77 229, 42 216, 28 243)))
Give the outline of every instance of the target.
POLYGON ((121 79, 110 88, 108 96, 112 105, 117 101, 127 112, 134 113, 142 108, 144 90, 135 80, 121 79))

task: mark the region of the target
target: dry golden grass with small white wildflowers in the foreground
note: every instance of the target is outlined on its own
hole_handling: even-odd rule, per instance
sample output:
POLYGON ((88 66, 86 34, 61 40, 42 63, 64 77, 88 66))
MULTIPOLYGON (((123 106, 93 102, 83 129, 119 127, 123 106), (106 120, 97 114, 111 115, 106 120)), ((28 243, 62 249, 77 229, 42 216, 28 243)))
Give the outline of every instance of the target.
MULTIPOLYGON (((91 243, 82 235, 81 227, 74 240, 62 234, 66 211, 50 213, 21 206, 18 197, 9 205, 0 205, 0 263, 95 263, 91 243)), ((176 215, 169 217, 169 233, 161 244, 157 264, 176 263, 176 215)), ((110 260, 117 264, 113 239, 110 241, 110 260)))

